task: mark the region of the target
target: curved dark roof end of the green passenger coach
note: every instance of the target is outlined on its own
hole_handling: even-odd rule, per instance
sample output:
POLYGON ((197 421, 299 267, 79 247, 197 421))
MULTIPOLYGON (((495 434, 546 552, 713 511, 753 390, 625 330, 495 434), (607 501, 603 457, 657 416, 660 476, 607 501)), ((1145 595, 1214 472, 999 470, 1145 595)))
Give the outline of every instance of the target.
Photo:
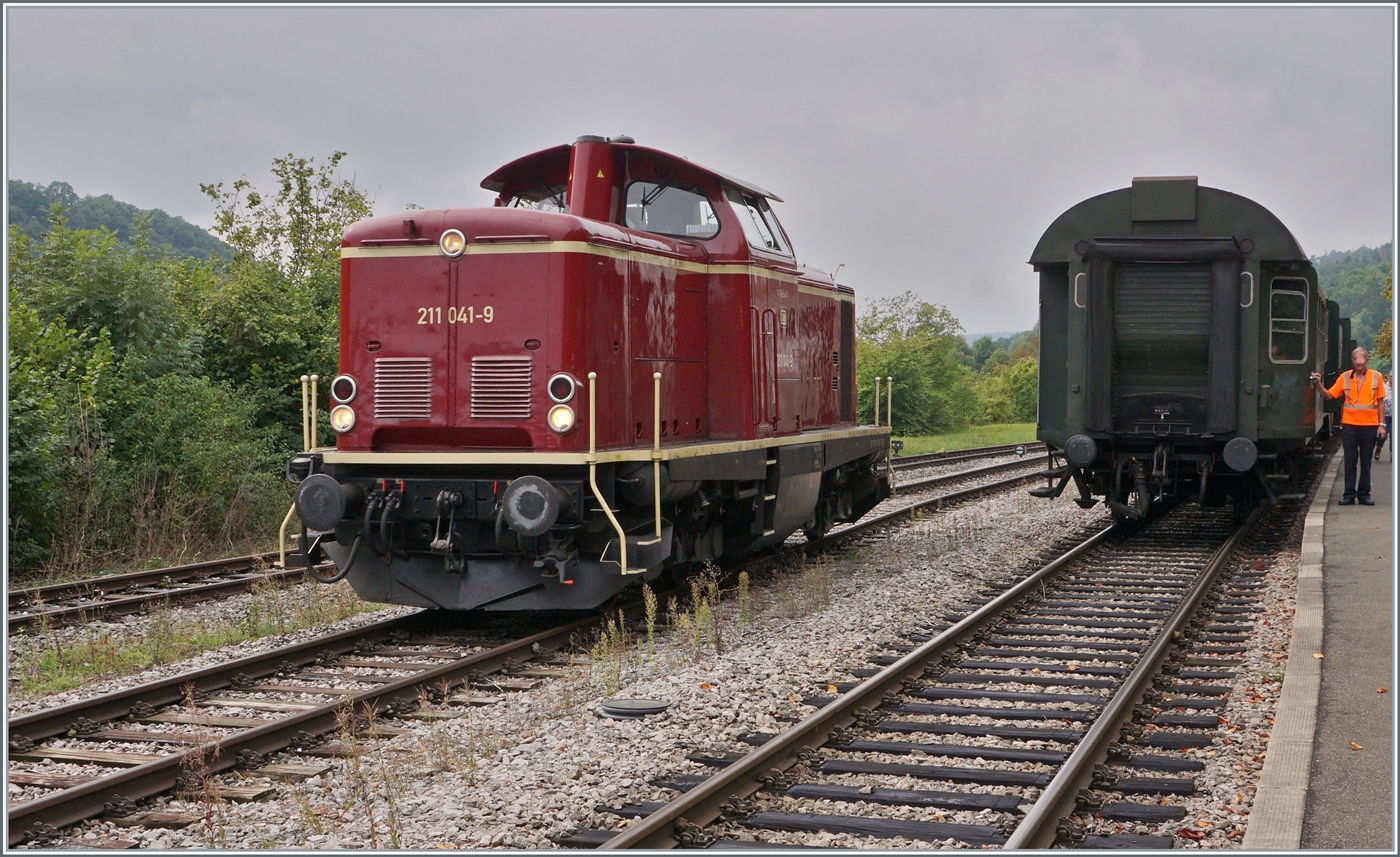
POLYGON ((1238 193, 1201 188, 1196 176, 1134 178, 1131 188, 1091 196, 1050 224, 1030 265, 1068 262, 1077 242, 1093 238, 1247 238, 1256 258, 1308 260, 1273 211, 1238 193))

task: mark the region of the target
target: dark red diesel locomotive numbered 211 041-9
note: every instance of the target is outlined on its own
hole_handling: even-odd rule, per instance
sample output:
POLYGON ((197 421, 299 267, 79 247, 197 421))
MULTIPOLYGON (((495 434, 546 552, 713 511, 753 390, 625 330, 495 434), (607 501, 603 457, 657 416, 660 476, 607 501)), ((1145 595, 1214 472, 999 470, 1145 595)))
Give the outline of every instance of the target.
POLYGON ((489 209, 342 242, 333 450, 293 458, 302 556, 368 601, 587 609, 889 494, 855 424, 854 293, 767 190, 627 137, 501 167, 489 209))

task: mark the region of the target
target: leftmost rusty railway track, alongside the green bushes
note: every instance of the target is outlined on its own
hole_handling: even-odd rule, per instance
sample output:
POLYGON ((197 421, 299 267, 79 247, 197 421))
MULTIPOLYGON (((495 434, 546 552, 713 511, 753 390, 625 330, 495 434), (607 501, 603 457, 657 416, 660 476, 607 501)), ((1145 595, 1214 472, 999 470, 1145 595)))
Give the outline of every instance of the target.
POLYGON ((252 588, 258 583, 294 583, 301 569, 273 569, 277 553, 255 553, 169 569, 111 574, 64 584, 11 590, 6 625, 21 627, 91 622, 139 613, 153 602, 204 601, 252 588))

